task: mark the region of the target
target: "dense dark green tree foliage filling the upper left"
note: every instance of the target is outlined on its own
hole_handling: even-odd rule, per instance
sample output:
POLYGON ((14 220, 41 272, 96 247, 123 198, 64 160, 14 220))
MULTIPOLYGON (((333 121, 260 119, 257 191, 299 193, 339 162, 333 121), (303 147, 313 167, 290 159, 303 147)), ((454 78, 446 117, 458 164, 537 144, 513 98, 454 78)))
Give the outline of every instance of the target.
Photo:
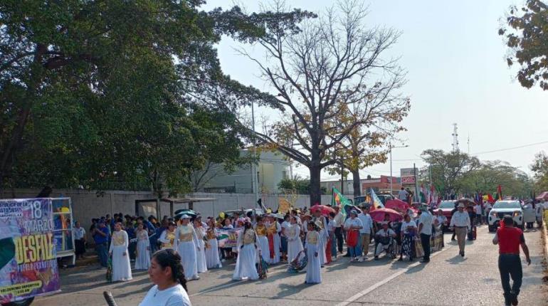
POLYGON ((2 1, 1 186, 117 181, 177 193, 206 162, 238 158, 246 131, 216 100, 273 97, 223 75, 214 43, 254 41, 272 16, 201 4, 2 1))

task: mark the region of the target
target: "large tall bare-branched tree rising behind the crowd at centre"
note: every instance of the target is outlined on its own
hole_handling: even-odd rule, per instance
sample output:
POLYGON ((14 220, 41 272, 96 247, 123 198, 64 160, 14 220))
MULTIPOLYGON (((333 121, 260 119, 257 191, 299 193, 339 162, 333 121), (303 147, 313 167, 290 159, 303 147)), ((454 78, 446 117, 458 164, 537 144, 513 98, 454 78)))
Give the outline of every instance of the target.
MULTIPOLYGON (((278 1, 273 11, 288 10, 278 1)), ((392 98, 403 75, 397 58, 381 57, 399 32, 367 28, 366 16, 359 1, 347 1, 320 18, 305 19, 298 28, 273 19, 266 25, 267 35, 256 41, 265 60, 241 51, 277 94, 283 118, 271 132, 255 137, 310 170, 310 204, 320 202, 320 173, 337 162, 331 156, 345 137, 357 127, 374 125, 380 120, 374 114, 409 107, 409 100, 392 98), (359 115, 341 129, 333 123, 341 103, 359 103, 367 111, 355 112, 359 115)))

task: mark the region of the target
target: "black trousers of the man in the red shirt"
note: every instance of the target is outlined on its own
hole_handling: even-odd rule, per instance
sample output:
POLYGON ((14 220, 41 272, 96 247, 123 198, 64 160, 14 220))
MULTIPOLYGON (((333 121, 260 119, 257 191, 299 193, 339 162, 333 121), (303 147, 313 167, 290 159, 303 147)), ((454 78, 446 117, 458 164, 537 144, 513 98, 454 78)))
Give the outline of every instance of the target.
POLYGON ((500 281, 502 282, 505 300, 511 300, 512 297, 517 297, 517 295, 520 294, 523 278, 520 255, 500 254, 498 256, 498 270, 500 272, 500 281), (514 282, 512 287, 510 287, 510 278, 512 278, 514 282))

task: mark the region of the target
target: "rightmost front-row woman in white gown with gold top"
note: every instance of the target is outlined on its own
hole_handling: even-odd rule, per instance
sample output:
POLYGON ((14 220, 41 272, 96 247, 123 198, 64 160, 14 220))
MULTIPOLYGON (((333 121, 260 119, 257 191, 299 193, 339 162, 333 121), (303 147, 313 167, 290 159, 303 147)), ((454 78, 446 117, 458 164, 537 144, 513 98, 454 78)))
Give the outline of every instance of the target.
POLYGON ((320 228, 317 223, 310 221, 307 224, 308 233, 306 234, 305 242, 305 250, 308 257, 305 278, 305 283, 307 284, 322 283, 322 265, 320 263, 322 252, 322 243, 320 241, 322 238, 320 237, 320 228))

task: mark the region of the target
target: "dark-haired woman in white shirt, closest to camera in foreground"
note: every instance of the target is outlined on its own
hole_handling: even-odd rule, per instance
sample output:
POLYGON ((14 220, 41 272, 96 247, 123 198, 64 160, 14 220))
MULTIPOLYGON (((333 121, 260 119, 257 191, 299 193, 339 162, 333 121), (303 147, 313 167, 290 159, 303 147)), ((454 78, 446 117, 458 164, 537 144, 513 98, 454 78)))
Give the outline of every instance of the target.
POLYGON ((186 293, 181 256, 173 249, 159 250, 152 255, 149 277, 154 286, 139 306, 191 306, 186 293))

